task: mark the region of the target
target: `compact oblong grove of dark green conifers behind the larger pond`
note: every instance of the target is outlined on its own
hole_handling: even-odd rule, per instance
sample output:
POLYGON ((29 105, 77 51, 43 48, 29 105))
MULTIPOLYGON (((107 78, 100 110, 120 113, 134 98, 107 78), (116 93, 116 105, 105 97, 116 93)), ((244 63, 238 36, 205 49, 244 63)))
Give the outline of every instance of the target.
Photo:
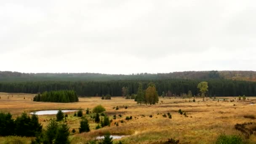
POLYGON ((78 96, 75 91, 45 91, 42 94, 38 93, 33 101, 44 102, 77 102, 78 96))

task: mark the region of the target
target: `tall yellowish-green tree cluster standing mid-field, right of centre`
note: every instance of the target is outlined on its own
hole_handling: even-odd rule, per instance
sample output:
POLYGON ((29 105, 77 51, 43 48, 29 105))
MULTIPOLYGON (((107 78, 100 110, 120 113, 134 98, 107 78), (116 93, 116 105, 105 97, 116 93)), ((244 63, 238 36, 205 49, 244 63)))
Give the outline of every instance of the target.
POLYGON ((146 90, 142 90, 141 83, 139 84, 139 88, 137 91, 137 96, 135 101, 139 104, 156 104, 158 103, 158 94, 155 88, 155 84, 149 83, 148 88, 146 90))

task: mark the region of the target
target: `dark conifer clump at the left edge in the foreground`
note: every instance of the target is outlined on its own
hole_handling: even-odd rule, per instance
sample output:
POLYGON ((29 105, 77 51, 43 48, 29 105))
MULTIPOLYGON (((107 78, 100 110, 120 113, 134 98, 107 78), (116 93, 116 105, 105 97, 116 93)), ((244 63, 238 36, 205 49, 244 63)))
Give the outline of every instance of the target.
POLYGON ((36 136, 42 132, 42 128, 35 114, 30 117, 22 113, 13 119, 10 113, 0 113, 0 136, 36 136))

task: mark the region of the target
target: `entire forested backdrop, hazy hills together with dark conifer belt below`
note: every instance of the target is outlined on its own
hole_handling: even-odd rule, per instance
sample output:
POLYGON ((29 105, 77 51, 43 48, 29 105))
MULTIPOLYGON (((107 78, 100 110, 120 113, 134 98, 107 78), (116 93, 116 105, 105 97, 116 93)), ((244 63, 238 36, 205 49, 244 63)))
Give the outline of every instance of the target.
POLYGON ((74 90, 79 96, 121 96, 123 87, 128 87, 128 93, 131 95, 137 92, 139 83, 146 89, 147 84, 153 82, 159 95, 165 92, 169 96, 180 96, 189 90, 193 95, 197 95, 197 84, 207 81, 208 96, 256 96, 256 82, 253 82, 255 77, 256 72, 253 71, 191 71, 136 75, 0 72, 0 91, 43 93, 74 90))

